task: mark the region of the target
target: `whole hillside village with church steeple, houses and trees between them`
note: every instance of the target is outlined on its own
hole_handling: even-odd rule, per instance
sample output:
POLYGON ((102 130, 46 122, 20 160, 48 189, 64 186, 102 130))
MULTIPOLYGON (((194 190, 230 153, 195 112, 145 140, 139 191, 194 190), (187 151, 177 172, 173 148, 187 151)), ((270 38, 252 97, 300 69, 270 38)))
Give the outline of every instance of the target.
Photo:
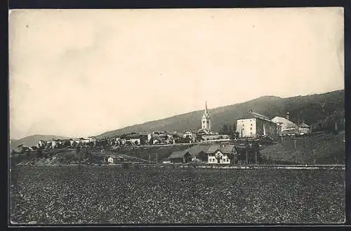
MULTIPOLYGON (((168 163, 208 163, 208 164, 241 164, 260 162, 260 148, 269 146, 284 137, 300 137, 312 133, 306 123, 294 123, 289 112, 284 117, 275 116, 270 119, 252 110, 242 118, 237 118, 234 130, 216 132, 211 129, 211 116, 208 113, 207 103, 203 116, 199 118, 199 130, 187 132, 150 132, 130 133, 121 136, 85 137, 79 139, 51 139, 40 140, 37 146, 26 147, 20 144, 12 154, 38 153, 42 151, 58 151, 62 148, 100 147, 101 151, 114 151, 110 155, 103 155, 102 163, 114 164, 125 162, 128 155, 120 155, 118 148, 143 146, 181 146, 187 144, 189 148, 168 153, 162 162, 168 163)), ((345 140, 345 139, 344 139, 345 140)), ((142 158, 133 161, 150 162, 142 158)))

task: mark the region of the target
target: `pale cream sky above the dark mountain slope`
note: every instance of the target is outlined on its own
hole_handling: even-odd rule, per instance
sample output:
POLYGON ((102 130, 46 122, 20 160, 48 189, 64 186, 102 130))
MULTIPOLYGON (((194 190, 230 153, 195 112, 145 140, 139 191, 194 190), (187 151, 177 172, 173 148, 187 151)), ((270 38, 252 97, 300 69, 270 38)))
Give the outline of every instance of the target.
POLYGON ((343 8, 11 10, 10 137, 344 89, 343 8))

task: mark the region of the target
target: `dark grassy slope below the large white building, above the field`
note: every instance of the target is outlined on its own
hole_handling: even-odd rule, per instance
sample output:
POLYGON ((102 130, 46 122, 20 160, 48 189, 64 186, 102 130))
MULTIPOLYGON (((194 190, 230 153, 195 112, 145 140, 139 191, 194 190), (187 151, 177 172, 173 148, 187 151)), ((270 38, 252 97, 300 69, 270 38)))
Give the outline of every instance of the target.
POLYGON ((316 134, 297 139, 286 138, 283 144, 267 146, 260 151, 265 159, 297 162, 300 164, 345 164, 344 134, 316 134), (314 149, 314 153, 313 153, 314 149))

